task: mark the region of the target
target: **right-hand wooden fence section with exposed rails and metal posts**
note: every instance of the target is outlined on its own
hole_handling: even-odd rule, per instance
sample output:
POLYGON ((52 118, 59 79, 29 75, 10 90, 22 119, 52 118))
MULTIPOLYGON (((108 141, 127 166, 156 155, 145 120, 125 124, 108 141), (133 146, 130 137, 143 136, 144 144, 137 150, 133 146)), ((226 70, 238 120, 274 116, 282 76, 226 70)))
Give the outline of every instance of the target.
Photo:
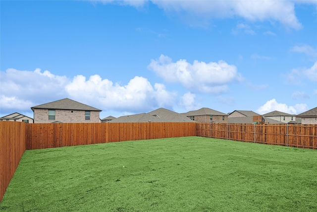
POLYGON ((317 149, 317 125, 197 123, 196 136, 317 149))

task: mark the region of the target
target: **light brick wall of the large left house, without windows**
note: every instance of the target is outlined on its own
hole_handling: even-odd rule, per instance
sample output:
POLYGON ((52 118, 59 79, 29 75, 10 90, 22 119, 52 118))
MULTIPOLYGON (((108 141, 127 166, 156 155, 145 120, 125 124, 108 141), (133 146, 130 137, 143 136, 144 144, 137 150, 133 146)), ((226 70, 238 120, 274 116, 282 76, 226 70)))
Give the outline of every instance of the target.
POLYGON ((34 123, 100 123, 100 111, 90 111, 90 120, 85 120, 83 110, 55 110, 55 120, 49 120, 48 109, 34 109, 34 123))

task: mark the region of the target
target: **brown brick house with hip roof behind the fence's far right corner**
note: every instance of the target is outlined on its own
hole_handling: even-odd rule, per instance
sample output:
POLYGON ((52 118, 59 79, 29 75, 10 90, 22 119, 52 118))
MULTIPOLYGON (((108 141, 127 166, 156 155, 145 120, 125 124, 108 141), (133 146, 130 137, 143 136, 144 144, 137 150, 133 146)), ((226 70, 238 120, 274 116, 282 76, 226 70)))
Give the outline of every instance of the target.
POLYGON ((182 114, 196 122, 228 123, 228 114, 205 107, 182 114))

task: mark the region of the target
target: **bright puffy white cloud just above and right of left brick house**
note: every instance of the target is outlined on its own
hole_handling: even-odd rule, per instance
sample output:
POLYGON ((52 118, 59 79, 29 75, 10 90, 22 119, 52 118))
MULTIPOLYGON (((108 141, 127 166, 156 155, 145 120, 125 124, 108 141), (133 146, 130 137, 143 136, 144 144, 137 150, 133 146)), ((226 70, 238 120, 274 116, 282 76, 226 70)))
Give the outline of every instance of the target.
POLYGON ((135 76, 126 85, 102 79, 99 75, 77 75, 65 87, 72 98, 83 102, 95 102, 103 110, 147 111, 156 107, 171 107, 174 93, 168 92, 162 84, 153 87, 148 79, 135 76))

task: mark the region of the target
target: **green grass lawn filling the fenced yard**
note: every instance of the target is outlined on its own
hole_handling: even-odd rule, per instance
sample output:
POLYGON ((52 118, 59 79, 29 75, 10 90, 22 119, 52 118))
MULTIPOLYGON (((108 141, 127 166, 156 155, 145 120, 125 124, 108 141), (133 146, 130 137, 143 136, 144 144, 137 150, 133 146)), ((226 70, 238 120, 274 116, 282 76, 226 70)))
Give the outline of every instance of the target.
POLYGON ((27 150, 9 212, 317 211, 317 151, 201 137, 27 150))

